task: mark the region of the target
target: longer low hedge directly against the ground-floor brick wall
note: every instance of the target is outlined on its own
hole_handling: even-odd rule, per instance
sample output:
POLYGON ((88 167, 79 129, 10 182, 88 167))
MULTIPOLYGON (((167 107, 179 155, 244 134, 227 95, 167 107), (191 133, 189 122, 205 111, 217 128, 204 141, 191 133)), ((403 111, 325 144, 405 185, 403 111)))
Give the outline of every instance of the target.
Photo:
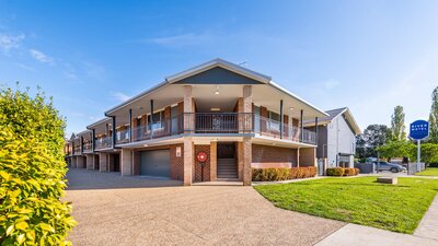
POLYGON ((253 168, 253 181, 278 181, 296 178, 308 178, 316 176, 316 167, 276 167, 276 168, 253 168))

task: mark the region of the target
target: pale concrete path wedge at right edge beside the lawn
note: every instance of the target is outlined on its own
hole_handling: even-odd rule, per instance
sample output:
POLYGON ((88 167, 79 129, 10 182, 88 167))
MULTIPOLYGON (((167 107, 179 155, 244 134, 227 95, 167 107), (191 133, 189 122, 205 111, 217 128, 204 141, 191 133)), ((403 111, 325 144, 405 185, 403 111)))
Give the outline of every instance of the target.
POLYGON ((435 196, 414 235, 434 238, 438 245, 438 195, 435 196))

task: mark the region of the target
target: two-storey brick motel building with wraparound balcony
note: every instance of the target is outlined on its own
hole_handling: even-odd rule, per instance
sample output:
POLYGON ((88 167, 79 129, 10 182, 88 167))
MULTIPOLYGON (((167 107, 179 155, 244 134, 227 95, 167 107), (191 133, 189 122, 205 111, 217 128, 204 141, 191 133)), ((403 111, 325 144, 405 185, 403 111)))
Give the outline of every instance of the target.
POLYGON ((327 114, 267 75, 215 59, 165 78, 72 136, 71 167, 184 181, 241 180, 251 168, 314 166, 327 114))

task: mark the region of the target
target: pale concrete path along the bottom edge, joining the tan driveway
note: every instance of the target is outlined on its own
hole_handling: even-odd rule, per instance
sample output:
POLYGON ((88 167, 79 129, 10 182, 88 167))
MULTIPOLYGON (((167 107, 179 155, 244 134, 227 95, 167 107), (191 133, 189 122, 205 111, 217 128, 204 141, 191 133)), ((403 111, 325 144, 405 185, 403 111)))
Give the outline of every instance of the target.
POLYGON ((315 246, 437 246, 438 241, 394 233, 357 224, 347 224, 315 246))

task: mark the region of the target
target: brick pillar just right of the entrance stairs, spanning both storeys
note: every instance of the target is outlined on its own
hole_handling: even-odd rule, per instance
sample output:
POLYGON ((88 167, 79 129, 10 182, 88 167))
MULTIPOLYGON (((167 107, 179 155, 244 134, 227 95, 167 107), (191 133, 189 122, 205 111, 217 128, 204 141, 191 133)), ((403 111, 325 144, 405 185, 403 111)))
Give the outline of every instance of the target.
MULTIPOLYGON (((252 113, 253 95, 252 86, 243 86, 243 113, 252 113)), ((252 181, 251 163, 252 163, 252 145, 251 138, 243 137, 243 185, 250 186, 252 181)))

